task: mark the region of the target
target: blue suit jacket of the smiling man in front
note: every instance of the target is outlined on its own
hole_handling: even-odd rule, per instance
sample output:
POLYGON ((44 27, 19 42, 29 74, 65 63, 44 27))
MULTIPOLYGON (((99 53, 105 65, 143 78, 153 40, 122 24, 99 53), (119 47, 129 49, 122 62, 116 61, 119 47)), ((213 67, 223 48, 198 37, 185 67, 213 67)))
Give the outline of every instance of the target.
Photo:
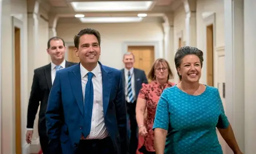
MULTIPOLYGON (((104 123, 117 154, 126 154, 127 117, 122 73, 99 64, 102 71, 104 123)), ((74 154, 84 124, 80 64, 56 73, 45 117, 51 153, 74 154)))

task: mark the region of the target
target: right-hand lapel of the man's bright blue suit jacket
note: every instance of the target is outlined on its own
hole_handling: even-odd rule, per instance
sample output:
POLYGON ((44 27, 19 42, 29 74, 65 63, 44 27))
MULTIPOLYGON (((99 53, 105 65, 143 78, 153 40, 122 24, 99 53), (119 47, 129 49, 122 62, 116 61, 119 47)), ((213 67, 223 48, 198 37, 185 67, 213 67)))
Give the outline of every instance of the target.
POLYGON ((101 66, 101 73, 102 73, 103 111, 105 116, 108 109, 108 104, 109 104, 109 99, 111 94, 112 78, 111 78, 111 72, 109 72, 109 70, 105 66, 103 66, 100 62, 99 64, 101 66))

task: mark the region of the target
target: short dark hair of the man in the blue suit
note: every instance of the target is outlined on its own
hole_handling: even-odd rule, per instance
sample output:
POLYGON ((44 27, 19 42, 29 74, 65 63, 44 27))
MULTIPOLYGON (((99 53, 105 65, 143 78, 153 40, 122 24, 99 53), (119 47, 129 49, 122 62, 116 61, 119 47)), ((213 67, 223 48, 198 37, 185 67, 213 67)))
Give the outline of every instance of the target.
POLYGON ((99 31, 96 29, 92 29, 92 28, 86 28, 86 29, 80 30, 79 33, 74 37, 75 48, 77 48, 77 49, 79 48, 80 37, 83 35, 86 35, 86 34, 94 35, 97 38, 99 45, 100 45, 101 39, 100 39, 99 31))

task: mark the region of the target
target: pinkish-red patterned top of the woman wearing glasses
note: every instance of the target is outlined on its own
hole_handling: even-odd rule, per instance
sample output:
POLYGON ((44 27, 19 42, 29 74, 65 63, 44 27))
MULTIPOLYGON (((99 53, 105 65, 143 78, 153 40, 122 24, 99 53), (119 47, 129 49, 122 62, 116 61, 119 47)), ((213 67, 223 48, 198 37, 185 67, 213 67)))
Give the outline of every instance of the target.
POLYGON ((148 135, 144 137, 144 146, 147 151, 153 152, 154 149, 154 132, 152 130, 156 107, 159 101, 160 95, 163 90, 168 87, 174 86, 174 83, 168 82, 163 87, 157 82, 152 81, 149 84, 142 84, 142 88, 139 92, 138 98, 146 100, 147 118, 144 120, 148 135))

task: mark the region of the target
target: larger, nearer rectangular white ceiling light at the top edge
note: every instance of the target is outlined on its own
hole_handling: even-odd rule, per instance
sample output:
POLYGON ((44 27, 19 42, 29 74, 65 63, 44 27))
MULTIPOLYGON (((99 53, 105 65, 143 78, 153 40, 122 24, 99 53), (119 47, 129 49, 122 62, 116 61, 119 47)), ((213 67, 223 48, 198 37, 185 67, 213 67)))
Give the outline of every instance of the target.
POLYGON ((103 12, 103 11, 147 11, 152 7, 153 1, 81 1, 71 2, 77 12, 103 12))

